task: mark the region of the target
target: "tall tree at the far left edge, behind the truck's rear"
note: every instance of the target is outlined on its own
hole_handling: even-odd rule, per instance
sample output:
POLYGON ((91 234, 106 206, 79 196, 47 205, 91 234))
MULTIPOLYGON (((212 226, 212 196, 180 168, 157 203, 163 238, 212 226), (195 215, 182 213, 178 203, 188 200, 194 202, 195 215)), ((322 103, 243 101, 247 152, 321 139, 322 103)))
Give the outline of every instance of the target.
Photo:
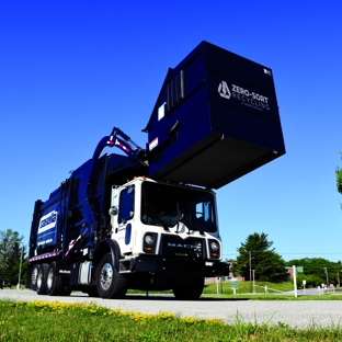
POLYGON ((22 265, 21 283, 25 277, 25 247, 23 237, 18 231, 8 229, 0 231, 0 282, 16 285, 19 281, 20 264, 22 265), (23 258, 21 260, 21 258, 23 258))

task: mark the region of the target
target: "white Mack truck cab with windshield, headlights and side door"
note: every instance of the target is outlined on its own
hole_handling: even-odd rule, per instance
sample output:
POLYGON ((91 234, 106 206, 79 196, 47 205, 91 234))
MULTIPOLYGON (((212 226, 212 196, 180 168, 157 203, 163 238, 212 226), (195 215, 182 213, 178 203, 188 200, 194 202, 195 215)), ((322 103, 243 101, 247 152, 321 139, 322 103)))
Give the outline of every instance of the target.
POLYGON ((122 256, 221 259, 213 191, 139 176, 113 186, 110 214, 122 256))

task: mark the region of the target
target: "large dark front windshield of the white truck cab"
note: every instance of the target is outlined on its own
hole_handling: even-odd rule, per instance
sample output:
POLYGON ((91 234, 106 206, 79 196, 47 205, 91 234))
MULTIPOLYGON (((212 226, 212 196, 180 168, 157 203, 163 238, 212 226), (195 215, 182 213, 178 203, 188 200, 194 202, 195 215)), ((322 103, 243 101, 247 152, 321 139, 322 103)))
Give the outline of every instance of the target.
POLYGON ((212 193, 144 182, 141 196, 142 224, 164 229, 183 224, 189 230, 217 230, 212 193))

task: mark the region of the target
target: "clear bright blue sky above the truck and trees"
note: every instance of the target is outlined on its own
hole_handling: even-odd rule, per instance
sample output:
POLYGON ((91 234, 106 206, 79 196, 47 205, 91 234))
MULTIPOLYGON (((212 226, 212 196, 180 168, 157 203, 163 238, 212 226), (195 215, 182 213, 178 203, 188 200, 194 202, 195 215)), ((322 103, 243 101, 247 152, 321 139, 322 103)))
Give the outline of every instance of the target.
POLYGON ((224 256, 265 232, 284 260, 342 260, 341 1, 0 2, 0 230, 113 126, 145 146, 169 67, 207 41, 272 68, 287 153, 216 191, 224 256))

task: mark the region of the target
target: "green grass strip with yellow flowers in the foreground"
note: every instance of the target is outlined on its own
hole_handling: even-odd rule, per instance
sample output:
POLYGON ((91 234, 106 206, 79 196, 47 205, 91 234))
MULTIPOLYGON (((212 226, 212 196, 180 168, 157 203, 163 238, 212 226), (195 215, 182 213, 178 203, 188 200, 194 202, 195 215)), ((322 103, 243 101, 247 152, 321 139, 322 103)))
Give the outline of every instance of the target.
POLYGON ((95 305, 0 300, 1 341, 341 341, 342 329, 146 315, 95 305))

